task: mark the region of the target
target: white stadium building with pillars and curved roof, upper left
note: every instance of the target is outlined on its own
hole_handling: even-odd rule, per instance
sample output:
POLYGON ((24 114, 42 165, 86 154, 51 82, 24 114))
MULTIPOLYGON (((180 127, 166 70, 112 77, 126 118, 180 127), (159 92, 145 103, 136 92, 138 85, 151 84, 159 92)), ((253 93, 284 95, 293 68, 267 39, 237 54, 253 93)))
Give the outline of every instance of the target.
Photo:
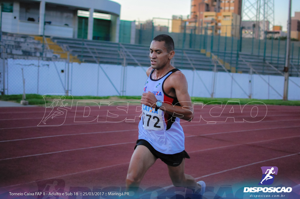
POLYGON ((2 4, 4 32, 81 38, 83 29, 89 40, 95 37, 95 31, 96 36, 108 34, 110 41, 119 39, 121 5, 114 1, 12 0, 2 4), (102 15, 109 17, 101 18, 102 15), (105 27, 99 27, 99 20, 106 20, 105 27), (107 31, 101 32, 101 28, 107 31))

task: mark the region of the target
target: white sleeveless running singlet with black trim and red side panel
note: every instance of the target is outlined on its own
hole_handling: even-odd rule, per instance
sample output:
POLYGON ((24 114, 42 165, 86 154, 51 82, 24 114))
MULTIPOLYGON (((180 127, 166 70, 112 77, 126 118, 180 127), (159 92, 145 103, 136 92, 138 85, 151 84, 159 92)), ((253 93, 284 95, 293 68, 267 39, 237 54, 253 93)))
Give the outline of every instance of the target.
MULTIPOLYGON (((171 97, 164 92, 163 86, 165 80, 178 69, 170 70, 160 79, 152 79, 151 71, 145 86, 145 92, 155 94, 157 100, 179 105, 176 97, 171 97)), ((175 154, 184 150, 184 133, 179 123, 179 118, 174 117, 164 111, 142 105, 143 116, 139 123, 139 139, 148 141, 155 150, 164 154, 175 154)))

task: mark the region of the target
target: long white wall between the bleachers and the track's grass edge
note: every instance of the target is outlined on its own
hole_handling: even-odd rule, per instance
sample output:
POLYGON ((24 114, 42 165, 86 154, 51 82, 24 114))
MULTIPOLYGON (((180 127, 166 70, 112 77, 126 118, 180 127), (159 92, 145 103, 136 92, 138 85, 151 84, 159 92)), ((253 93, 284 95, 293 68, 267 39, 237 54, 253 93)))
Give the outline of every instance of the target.
MULTIPOLYGON (((65 62, 39 62, 37 60, 8 59, 7 94, 22 94, 22 71, 26 79, 27 94, 55 94, 64 93, 67 88, 67 63, 65 62), (29 66, 30 65, 30 66, 29 66), (56 66, 56 67, 55 67, 56 66), (64 70, 64 73, 61 73, 64 70), (39 79, 39 80, 38 80, 39 79), (39 87, 39 89, 38 89, 39 87), (38 92, 37 92, 38 90, 38 92)), ((118 95, 122 90, 122 66, 101 64, 73 63, 69 65, 69 93, 75 96, 92 95, 112 96, 118 95), (110 83, 109 79, 112 83, 110 83), (99 82, 99 83, 98 83, 99 82), (97 86, 98 85, 98 86, 97 86), (114 86, 117 91, 115 90, 114 86), (98 88, 98 90, 97 90, 98 88)), ((146 76, 146 67, 127 66, 125 72, 125 95, 139 96, 143 93, 146 76)), ((213 72, 182 70, 188 81, 188 91, 194 97, 210 97, 213 85, 213 72), (205 88, 206 87, 206 88, 205 88)), ((214 97, 221 98, 248 98, 249 75, 218 72, 215 81, 214 97), (240 85, 240 86, 238 86, 240 85), (244 91, 242 91, 242 89, 244 91)), ((299 77, 290 77, 289 99, 300 100, 300 88, 293 82, 300 85, 299 77)), ((253 99, 282 99, 283 77, 282 76, 258 76, 252 75, 252 98, 253 99), (264 78, 274 88, 268 86, 264 78), (279 94, 277 94, 277 92, 279 94), (281 96, 280 96, 281 95, 281 96)))

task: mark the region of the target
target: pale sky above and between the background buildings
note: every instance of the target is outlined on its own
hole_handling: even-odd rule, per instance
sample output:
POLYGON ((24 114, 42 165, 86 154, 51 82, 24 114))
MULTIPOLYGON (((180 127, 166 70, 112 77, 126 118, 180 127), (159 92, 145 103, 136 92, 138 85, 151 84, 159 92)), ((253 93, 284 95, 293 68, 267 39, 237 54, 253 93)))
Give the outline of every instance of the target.
MULTIPOLYGON (((121 4, 121 20, 146 21, 153 18, 171 19, 172 15, 190 15, 191 0, 112 0, 121 4)), ((254 1, 254 0, 253 0, 254 1)), ((286 31, 289 0, 274 0, 274 23, 286 31)), ((300 0, 292 0, 291 16, 300 12, 300 0)))

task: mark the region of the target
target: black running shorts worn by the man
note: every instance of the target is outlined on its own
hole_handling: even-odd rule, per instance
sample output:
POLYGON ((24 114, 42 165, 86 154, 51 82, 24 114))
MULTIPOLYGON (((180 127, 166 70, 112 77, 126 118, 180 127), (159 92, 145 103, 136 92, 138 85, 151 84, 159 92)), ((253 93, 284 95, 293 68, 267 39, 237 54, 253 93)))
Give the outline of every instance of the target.
POLYGON ((161 159, 161 161, 163 161, 169 166, 173 166, 173 167, 179 166, 184 158, 190 158, 190 156, 187 154, 185 150, 175 154, 161 153, 155 150, 148 141, 143 139, 137 140, 137 145, 134 147, 134 149, 137 148, 138 145, 143 145, 147 147, 157 159, 158 158, 161 159))

